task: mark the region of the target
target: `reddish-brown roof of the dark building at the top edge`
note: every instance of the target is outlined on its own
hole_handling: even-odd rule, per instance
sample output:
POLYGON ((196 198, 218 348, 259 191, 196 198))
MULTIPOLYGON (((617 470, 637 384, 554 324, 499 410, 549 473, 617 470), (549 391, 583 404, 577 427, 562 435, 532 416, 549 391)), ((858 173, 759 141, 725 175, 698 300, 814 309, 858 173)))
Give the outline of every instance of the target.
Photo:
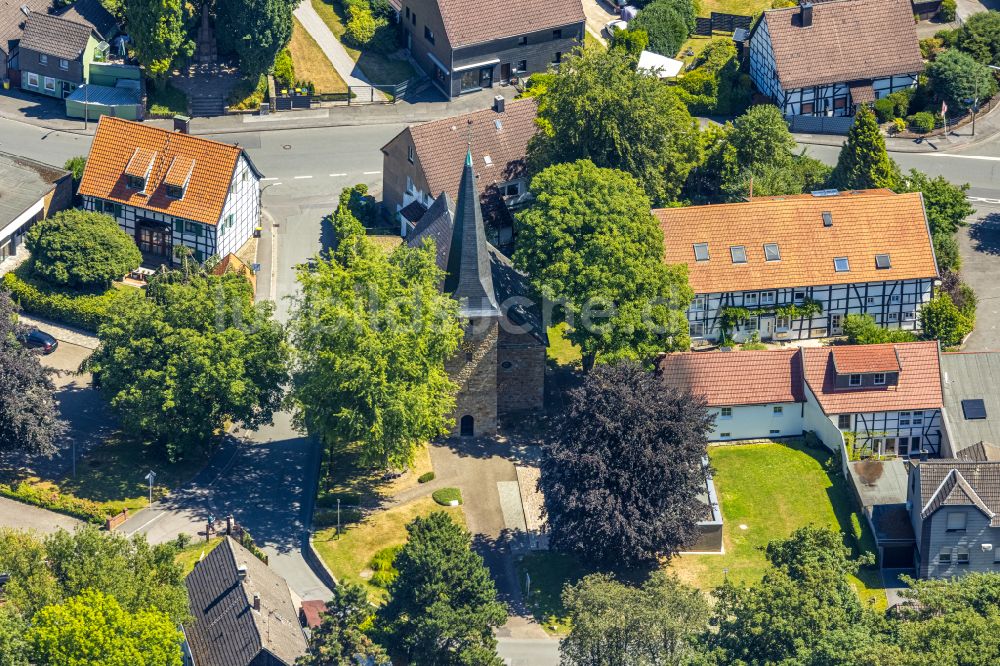
POLYGON ((587 20, 580 0, 437 0, 437 4, 452 48, 582 24, 587 20))

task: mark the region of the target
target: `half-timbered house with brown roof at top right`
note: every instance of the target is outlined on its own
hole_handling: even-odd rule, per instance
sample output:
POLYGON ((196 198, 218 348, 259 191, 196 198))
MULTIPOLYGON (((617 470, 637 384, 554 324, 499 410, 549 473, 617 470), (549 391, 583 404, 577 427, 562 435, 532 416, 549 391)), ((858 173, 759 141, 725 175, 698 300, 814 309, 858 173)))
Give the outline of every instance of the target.
POLYGON ((853 116, 924 70, 910 0, 829 0, 765 11, 750 78, 786 116, 853 116))

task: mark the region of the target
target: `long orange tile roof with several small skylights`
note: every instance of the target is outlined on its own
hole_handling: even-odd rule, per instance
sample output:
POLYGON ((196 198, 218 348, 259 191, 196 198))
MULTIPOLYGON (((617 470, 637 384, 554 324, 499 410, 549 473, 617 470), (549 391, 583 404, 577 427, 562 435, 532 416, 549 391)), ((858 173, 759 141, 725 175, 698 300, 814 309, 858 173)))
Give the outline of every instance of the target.
POLYGON ((919 192, 889 190, 763 197, 753 201, 654 210, 663 230, 665 260, 688 266, 696 293, 780 289, 937 277, 937 264, 919 192), (831 226, 824 226, 829 213, 831 226), (708 244, 708 261, 693 246, 708 244), (764 244, 780 259, 767 261, 764 244), (730 248, 742 246, 746 262, 730 248), (875 255, 889 255, 876 268, 875 255), (849 270, 837 271, 845 257, 849 270))

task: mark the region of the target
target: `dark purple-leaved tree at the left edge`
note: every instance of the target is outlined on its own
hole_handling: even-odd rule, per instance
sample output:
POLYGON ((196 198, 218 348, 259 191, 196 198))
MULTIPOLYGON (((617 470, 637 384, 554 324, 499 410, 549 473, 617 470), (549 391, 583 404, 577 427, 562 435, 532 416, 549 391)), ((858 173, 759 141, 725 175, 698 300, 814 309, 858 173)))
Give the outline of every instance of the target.
POLYGON ((54 399, 54 371, 25 348, 18 336, 17 306, 0 291, 0 451, 51 455, 66 434, 54 399))

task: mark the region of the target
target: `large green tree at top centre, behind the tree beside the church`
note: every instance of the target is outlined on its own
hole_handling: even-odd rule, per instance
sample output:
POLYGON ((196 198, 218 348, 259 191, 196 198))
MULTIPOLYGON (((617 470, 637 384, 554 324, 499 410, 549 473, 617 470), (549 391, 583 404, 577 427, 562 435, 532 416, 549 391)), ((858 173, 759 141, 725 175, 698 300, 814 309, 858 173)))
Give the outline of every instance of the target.
POLYGON ((589 159, 632 174, 657 205, 674 201, 700 159, 698 123, 670 86, 636 72, 622 49, 563 58, 539 95, 540 131, 528 146, 537 173, 589 159))

